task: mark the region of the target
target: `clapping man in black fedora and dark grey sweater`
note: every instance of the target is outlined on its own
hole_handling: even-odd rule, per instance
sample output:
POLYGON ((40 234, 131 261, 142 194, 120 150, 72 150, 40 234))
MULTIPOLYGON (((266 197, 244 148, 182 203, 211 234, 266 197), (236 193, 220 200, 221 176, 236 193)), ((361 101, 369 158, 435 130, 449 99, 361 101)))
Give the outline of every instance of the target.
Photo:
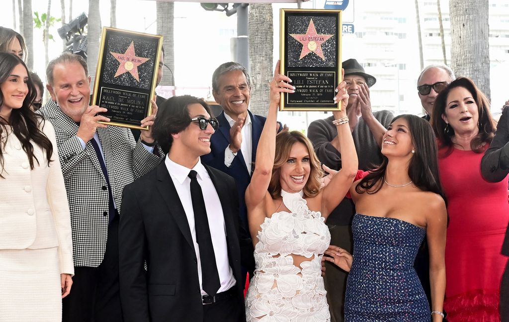
MULTIPOLYGON (((355 60, 343 62, 344 80, 350 95, 346 107, 350 128, 359 159, 359 169, 367 170, 372 164, 382 162, 380 146, 382 136, 394 115, 387 110, 373 112, 371 110, 370 87, 377 81, 366 74, 364 68, 355 60)), ((332 124, 334 116, 312 122, 307 129, 307 137, 313 142, 315 152, 320 161, 333 170, 341 169, 341 153, 338 152, 336 127, 332 124)), ((350 232, 355 206, 351 199, 345 198, 329 215, 327 225, 331 233, 331 245, 337 245, 352 252, 352 236, 350 232)), ((331 321, 340 322, 344 319, 344 301, 347 274, 337 266, 326 262, 324 276, 327 289, 327 302, 330 305, 331 321)))

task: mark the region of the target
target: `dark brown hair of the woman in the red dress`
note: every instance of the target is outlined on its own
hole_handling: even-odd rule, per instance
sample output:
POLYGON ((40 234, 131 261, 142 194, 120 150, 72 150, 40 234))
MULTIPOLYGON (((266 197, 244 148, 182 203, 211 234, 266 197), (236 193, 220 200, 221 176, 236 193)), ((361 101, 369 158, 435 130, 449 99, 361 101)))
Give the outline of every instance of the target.
POLYGON ((455 134, 454 129, 451 126, 447 126, 447 123, 442 119, 442 115, 445 114, 445 108, 447 107, 447 96, 450 91, 456 87, 463 87, 466 89, 477 104, 477 112, 479 114, 477 126, 479 128, 479 134, 470 141, 470 148, 472 151, 475 153, 484 153, 486 150, 484 143, 491 143, 495 136, 496 123, 490 113, 490 101, 483 92, 479 91, 471 79, 460 77, 452 81, 438 94, 433 107, 431 125, 439 140, 439 149, 445 148, 444 153, 440 153, 440 157, 446 157, 454 150, 454 143, 451 139, 455 134))

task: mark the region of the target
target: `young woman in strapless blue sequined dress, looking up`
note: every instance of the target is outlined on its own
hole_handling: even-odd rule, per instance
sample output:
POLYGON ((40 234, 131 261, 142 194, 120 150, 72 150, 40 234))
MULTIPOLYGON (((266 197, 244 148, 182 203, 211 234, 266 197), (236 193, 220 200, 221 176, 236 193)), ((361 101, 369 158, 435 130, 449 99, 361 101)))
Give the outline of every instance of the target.
POLYGON ((382 164, 350 188, 357 212, 353 262, 341 248, 325 252, 327 260, 350 271, 345 321, 441 321, 447 213, 432 128, 418 116, 397 116, 383 137, 382 154, 382 164), (425 237, 431 311, 413 268, 425 237))

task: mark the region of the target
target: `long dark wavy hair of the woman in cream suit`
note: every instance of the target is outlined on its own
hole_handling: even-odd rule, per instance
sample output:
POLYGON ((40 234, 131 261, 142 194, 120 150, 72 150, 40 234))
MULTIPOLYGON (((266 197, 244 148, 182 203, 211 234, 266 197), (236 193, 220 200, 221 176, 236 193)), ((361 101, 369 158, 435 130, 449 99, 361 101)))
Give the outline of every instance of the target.
MULTIPOLYGON (((26 69, 26 74, 29 75, 26 65, 18 56, 11 53, 0 52, 0 84, 3 84, 9 78, 13 69, 19 64, 23 65, 26 69)), ((29 157, 30 168, 34 169, 34 160, 37 164, 39 164, 39 160, 37 160, 37 157, 34 155, 34 146, 32 142, 39 145, 39 147, 46 152, 48 165, 51 161, 51 155, 53 154, 53 145, 39 128, 39 125, 44 122, 42 116, 34 113, 31 108, 37 92, 30 75, 26 84, 29 91, 23 100, 21 108, 13 108, 9 120, 0 116, 0 137, 5 136, 4 131, 7 133, 8 126, 12 127, 12 133, 19 139, 23 151, 29 157)), ((4 94, 0 91, 0 108, 3 105, 4 94)), ((0 178, 4 178, 4 153, 7 140, 8 137, 5 136, 5 139, 2 139, 2 142, 0 142, 0 178)))

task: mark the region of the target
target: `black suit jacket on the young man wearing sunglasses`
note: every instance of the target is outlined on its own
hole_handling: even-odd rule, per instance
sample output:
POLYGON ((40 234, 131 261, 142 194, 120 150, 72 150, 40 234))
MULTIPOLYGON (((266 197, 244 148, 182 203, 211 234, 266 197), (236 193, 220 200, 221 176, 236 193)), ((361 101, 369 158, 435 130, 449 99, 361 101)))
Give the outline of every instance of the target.
MULTIPOLYGON (((233 178, 205 166, 221 200, 228 257, 245 321, 237 190, 233 178)), ((119 225, 120 296, 125 322, 203 321, 196 254, 186 214, 166 165, 124 189, 119 225), (145 271, 144 262, 148 270, 145 271)), ((251 246, 252 249, 252 246, 251 246)), ((248 254, 252 257, 252 253, 248 254)))

